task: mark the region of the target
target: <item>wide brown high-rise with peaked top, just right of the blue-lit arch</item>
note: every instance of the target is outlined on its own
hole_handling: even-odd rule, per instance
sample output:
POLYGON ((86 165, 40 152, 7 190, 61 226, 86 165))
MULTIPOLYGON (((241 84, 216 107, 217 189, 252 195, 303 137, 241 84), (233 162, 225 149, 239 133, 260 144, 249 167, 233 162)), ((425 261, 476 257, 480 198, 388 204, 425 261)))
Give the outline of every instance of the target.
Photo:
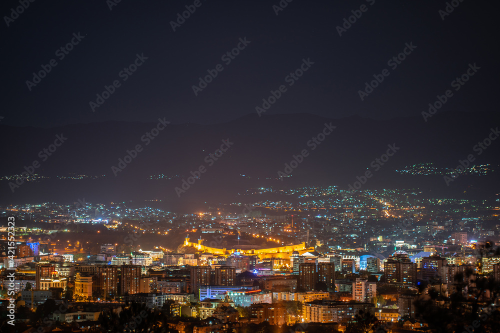
POLYGON ((387 283, 415 284, 416 264, 412 263, 404 251, 396 251, 383 265, 387 283))

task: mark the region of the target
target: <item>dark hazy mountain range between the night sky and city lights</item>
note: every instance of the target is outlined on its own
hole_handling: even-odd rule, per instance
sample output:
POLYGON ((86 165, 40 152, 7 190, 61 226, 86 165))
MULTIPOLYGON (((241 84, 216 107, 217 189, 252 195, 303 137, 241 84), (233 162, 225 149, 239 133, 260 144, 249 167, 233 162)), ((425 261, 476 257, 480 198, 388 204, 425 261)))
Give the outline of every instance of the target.
MULTIPOLYGON (((165 118, 168 121, 167 118, 165 118)), ((363 188, 425 188, 446 195, 488 196, 497 192, 498 174, 488 177, 460 176, 446 186, 440 176, 407 176, 394 170, 420 162, 439 167, 456 167, 459 159, 476 154, 472 147, 498 126, 495 113, 443 112, 423 121, 421 115, 411 118, 373 120, 361 117, 327 119, 310 114, 248 115, 217 125, 167 125, 148 145, 141 136, 155 123, 103 122, 66 125, 57 128, 12 127, 0 125, 2 163, 0 176, 19 174, 24 166, 40 162, 37 173, 50 177, 26 182, 12 193, 8 181, 0 182, 1 203, 42 201, 73 202, 85 198, 90 202, 154 200, 166 202, 169 208, 232 202, 238 193, 250 187, 303 185, 338 185, 347 188, 356 181, 375 158, 395 144, 399 150, 374 172, 363 188), (308 140, 322 132, 324 124, 336 128, 312 150, 308 140), (38 152, 54 142, 56 135, 67 140, 46 161, 38 152), (209 166, 205 157, 229 139, 233 144, 220 159, 209 166), (126 150, 141 144, 143 150, 117 176, 111 166, 126 150), (292 172, 277 179, 277 171, 292 155, 308 150, 308 156, 292 172), (177 197, 174 188, 182 177, 200 166, 206 168, 190 188, 177 197), (68 173, 106 175, 88 180, 60 180, 55 176, 68 173), (180 178, 150 180, 163 174, 180 178), (244 176, 242 176, 244 175, 244 176)), ((492 144, 474 163, 499 162, 500 140, 492 144)))

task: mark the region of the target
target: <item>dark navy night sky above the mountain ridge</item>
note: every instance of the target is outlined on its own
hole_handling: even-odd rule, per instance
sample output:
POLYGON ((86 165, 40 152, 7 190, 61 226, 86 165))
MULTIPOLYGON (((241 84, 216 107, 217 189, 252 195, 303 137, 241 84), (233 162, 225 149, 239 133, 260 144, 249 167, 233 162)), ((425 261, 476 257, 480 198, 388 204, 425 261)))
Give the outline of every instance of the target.
MULTIPOLYGON (((262 98, 280 85, 286 92, 266 114, 311 113, 330 118, 417 116, 470 64, 480 67, 442 110, 492 111, 498 89, 498 4, 458 4, 441 18, 445 1, 201 0, 173 31, 170 21, 194 1, 34 1, 1 27, 2 124, 52 127, 109 120, 214 124, 255 114, 262 98), (341 33, 344 18, 364 5, 361 17, 341 33), (494 6, 494 7, 493 7, 494 6), (57 51, 83 38, 68 54, 57 51), (231 62, 221 56, 249 43, 231 62), (387 61, 416 46, 396 68, 387 61), (240 44, 241 46, 241 44, 240 44), (57 53, 56 53, 57 52, 57 53), (119 75, 142 55, 127 77, 119 75), (63 59, 60 59, 64 55, 63 59), (33 72, 57 65, 36 86, 33 72), (313 62, 289 86, 285 77, 313 62), (202 91, 192 86, 207 70, 223 70, 202 91), (361 101, 358 90, 387 69, 361 101), (94 108, 104 85, 119 81, 94 108)), ((18 1, 2 1, 2 16, 18 1)), ((193 7, 191 7, 193 8, 193 7)), ((351 18, 353 20, 353 17, 351 18)), ((227 59, 227 58, 226 58, 227 59)), ((453 88, 451 88, 453 89, 453 88)))

